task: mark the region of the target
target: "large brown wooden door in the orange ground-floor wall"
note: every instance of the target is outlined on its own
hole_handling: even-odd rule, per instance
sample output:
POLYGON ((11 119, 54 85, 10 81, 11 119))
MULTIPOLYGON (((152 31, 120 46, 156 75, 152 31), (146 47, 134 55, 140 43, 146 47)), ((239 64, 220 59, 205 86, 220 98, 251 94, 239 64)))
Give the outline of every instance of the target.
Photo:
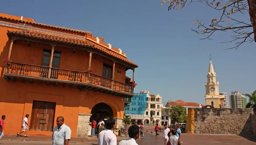
POLYGON ((33 100, 31 131, 52 131, 54 124, 55 102, 33 100))

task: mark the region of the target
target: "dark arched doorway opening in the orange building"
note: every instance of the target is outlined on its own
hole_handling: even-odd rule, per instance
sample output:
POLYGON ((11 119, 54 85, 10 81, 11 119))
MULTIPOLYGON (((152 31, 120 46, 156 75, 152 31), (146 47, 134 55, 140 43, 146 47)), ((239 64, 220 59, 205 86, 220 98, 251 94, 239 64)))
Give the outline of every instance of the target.
POLYGON ((90 121, 92 121, 92 119, 95 119, 98 122, 98 120, 100 119, 108 120, 110 118, 113 118, 113 110, 105 103, 98 103, 93 106, 91 114, 92 116, 90 117, 90 121))

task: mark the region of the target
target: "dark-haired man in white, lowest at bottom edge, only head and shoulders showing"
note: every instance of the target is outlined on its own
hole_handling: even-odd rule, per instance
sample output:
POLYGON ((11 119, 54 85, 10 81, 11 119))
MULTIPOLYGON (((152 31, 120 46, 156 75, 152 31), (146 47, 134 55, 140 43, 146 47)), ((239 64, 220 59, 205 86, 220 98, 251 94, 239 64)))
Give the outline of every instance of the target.
POLYGON ((119 145, 138 145, 135 141, 140 137, 140 128, 137 125, 131 125, 128 129, 129 139, 124 139, 119 142, 119 145))

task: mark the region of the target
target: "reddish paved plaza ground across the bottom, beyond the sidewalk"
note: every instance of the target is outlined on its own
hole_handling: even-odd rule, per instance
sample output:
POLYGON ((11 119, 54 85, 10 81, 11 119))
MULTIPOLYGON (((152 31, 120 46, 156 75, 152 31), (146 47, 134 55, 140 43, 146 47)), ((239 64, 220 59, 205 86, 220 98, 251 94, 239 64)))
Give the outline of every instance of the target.
MULTIPOLYGON (((163 131, 159 136, 155 136, 154 126, 145 126, 144 139, 137 139, 138 145, 163 145, 163 131), (153 133, 151 133, 151 131, 153 133)), ((118 137, 118 139, 121 139, 118 137)), ((23 140, 4 140, 0 139, 1 145, 50 145, 51 141, 23 141, 23 140)), ((241 137, 235 134, 181 134, 181 145, 256 145, 256 136, 241 137)), ((94 142, 74 142, 70 145, 96 145, 94 142)))

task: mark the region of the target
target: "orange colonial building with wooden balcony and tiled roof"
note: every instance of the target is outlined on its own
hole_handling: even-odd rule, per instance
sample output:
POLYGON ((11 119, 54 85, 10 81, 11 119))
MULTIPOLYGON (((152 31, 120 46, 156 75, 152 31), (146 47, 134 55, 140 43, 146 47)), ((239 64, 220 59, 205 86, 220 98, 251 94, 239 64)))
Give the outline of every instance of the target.
POLYGON ((121 49, 91 32, 46 25, 0 13, 0 115, 5 134, 50 136, 58 116, 85 137, 89 121, 114 118, 122 124, 125 99, 133 96, 125 72, 138 67, 121 49))

